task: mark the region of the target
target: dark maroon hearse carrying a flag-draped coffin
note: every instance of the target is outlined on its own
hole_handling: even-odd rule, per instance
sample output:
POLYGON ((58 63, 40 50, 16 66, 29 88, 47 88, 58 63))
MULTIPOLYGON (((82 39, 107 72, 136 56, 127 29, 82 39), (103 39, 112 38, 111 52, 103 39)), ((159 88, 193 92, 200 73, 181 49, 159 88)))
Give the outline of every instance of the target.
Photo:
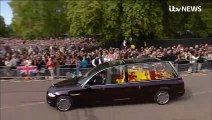
POLYGON ((75 103, 152 99, 164 105, 185 93, 183 79, 171 62, 154 58, 105 62, 84 76, 53 84, 47 102, 61 111, 75 103))

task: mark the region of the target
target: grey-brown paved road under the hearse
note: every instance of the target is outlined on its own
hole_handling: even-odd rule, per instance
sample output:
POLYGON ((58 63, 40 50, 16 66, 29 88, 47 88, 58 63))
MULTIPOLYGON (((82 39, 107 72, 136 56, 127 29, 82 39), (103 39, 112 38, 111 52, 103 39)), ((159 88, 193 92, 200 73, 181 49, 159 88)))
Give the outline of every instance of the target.
POLYGON ((45 103, 51 81, 1 81, 1 120, 212 120, 212 73, 190 74, 186 94, 168 105, 124 104, 59 112, 45 103))

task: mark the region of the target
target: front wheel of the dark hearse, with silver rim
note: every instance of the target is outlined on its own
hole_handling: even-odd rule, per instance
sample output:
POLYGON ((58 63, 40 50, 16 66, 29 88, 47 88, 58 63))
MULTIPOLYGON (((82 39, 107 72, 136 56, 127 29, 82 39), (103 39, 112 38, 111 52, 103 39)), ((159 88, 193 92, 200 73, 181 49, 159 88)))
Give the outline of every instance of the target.
POLYGON ((72 107, 71 98, 69 96, 59 96, 56 101, 56 107, 60 111, 68 111, 72 107))

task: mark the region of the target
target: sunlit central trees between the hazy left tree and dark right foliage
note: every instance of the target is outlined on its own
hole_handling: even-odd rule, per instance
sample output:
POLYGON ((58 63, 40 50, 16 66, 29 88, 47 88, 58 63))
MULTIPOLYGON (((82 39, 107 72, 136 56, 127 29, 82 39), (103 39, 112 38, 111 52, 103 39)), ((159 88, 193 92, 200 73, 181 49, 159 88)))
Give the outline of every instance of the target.
POLYGON ((149 1, 72 0, 67 9, 71 36, 101 36, 107 41, 160 36, 163 29, 162 10, 149 1))

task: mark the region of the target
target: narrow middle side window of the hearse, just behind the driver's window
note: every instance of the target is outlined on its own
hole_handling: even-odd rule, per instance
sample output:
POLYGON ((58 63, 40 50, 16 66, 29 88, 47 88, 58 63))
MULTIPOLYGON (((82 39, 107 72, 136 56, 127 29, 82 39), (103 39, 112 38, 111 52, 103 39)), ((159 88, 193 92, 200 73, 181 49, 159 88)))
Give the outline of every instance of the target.
POLYGON ((125 83, 125 65, 114 66, 108 69, 110 84, 125 83))

